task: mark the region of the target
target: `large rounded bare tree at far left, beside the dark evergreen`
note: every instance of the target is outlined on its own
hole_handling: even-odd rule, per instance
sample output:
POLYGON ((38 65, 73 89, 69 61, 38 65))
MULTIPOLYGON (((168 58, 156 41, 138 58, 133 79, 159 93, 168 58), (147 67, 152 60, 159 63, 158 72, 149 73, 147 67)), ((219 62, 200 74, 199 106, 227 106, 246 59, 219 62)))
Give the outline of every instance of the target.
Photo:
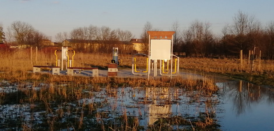
POLYGON ((22 21, 14 21, 10 29, 13 32, 13 37, 19 44, 26 44, 27 36, 34 31, 30 24, 22 21))

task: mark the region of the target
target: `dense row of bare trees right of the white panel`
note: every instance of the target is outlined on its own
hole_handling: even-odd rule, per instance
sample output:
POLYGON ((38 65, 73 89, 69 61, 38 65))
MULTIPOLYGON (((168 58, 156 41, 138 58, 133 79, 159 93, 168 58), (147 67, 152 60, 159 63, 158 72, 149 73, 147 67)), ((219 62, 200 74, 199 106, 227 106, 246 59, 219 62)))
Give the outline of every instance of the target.
POLYGON ((249 50, 255 55, 261 50, 265 59, 274 57, 274 21, 262 26, 254 15, 241 10, 233 16, 232 24, 225 25, 218 35, 212 33, 209 22, 199 20, 194 20, 185 30, 175 21, 171 31, 175 31, 173 53, 177 55, 238 57, 240 50, 246 55, 249 50))

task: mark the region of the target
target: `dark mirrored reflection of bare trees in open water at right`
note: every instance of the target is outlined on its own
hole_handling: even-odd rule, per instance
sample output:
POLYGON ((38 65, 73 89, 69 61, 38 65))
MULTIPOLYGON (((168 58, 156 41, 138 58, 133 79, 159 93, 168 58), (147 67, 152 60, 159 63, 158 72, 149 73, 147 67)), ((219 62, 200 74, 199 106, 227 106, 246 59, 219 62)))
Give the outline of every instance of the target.
POLYGON ((221 94, 224 99, 228 97, 233 101, 233 111, 236 111, 237 116, 245 113, 246 110, 252 110, 252 104, 259 104, 266 101, 273 104, 273 90, 258 85, 253 85, 249 82, 233 81, 225 83, 216 83, 221 88, 221 94))

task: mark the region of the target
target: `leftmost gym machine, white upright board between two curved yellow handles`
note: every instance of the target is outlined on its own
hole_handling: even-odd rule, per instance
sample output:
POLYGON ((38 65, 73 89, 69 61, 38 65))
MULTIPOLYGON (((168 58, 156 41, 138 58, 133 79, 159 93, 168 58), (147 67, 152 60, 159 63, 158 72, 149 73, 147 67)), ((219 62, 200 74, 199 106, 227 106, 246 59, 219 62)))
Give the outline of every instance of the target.
POLYGON ((58 60, 56 51, 62 51, 61 53, 61 70, 63 71, 63 61, 66 60, 66 69, 68 69, 69 67, 73 67, 73 57, 75 55, 75 51, 74 50, 68 50, 68 47, 62 47, 61 50, 55 50, 54 54, 56 55, 56 66, 57 66, 57 62, 58 62, 58 66, 60 66, 60 59, 58 60), (68 51, 72 51, 73 55, 72 55, 72 60, 69 60, 69 55, 68 55, 68 51))

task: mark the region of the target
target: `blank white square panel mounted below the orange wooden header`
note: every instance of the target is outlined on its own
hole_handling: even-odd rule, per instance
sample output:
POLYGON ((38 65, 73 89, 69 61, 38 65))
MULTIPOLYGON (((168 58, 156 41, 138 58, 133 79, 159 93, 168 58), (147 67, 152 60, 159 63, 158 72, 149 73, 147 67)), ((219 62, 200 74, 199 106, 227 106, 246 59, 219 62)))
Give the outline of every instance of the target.
POLYGON ((171 40, 150 40, 150 59, 170 60, 171 40))

